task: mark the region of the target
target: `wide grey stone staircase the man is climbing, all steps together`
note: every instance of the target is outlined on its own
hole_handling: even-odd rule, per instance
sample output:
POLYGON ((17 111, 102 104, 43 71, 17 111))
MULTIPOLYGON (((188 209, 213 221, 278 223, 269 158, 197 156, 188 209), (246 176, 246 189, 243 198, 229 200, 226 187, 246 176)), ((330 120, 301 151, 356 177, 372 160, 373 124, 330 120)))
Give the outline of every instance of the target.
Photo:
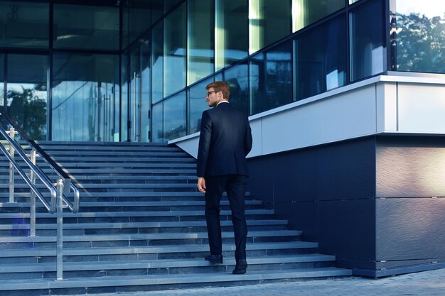
MULTIPOLYGON (((63 278, 55 280, 55 214, 38 204, 29 234, 29 190, 0 156, 0 295, 69 295, 245 285, 351 275, 334 256, 301 241, 301 231, 274 219, 247 192, 245 275, 232 275, 235 246, 227 198, 222 201, 224 264, 208 254, 203 194, 195 160, 176 147, 137 143, 43 142, 80 188, 80 212, 64 213, 63 278)), ((38 165, 45 168, 42 161, 38 165)), ((46 170, 44 169, 46 172, 46 170)), ((49 173, 49 170, 48 170, 49 173)))

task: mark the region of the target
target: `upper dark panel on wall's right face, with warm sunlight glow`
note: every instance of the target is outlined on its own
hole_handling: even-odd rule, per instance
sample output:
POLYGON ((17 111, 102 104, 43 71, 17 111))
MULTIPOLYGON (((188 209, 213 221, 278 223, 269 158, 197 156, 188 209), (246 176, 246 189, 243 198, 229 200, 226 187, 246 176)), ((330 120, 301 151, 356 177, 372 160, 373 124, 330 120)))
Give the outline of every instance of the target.
POLYGON ((445 197, 444 139, 397 140, 377 141, 377 197, 445 197))

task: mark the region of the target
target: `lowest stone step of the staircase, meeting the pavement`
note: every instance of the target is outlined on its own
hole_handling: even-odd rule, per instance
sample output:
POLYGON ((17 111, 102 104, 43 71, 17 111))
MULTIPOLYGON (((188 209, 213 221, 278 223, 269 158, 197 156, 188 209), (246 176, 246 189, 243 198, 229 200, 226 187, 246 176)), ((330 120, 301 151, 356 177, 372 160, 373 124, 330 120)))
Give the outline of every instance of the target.
MULTIPOLYGON (((29 279, 2 280, 0 290, 5 295, 23 295, 23 292, 51 291, 51 295, 86 294, 87 292, 132 292, 137 290, 168 290, 178 287, 240 285, 240 283, 267 283, 274 280, 321 279, 350 276, 351 271, 340 268, 297 268, 289 270, 248 271, 245 275, 224 273, 193 273, 173 275, 134 275, 97 278, 70 278, 67 280, 29 279)), ((48 294, 49 295, 49 294, 48 294)))

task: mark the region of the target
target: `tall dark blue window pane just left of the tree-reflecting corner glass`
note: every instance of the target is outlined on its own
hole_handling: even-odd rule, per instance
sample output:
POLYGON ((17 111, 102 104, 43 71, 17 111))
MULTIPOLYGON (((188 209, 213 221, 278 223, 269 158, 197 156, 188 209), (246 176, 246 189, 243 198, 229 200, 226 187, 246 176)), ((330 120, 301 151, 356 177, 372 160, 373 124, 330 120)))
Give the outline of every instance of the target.
POLYGON ((368 1, 350 13, 350 80, 383 72, 382 2, 368 1))

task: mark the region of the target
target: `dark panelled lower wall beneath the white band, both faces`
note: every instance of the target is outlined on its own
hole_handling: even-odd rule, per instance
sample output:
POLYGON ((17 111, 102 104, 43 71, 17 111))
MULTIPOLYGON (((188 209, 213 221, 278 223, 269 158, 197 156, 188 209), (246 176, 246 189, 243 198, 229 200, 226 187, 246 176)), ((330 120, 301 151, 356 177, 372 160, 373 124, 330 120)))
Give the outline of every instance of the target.
POLYGON ((250 159, 250 172, 251 196, 338 266, 385 276, 385 268, 444 261, 443 136, 370 136, 266 155, 250 159))

